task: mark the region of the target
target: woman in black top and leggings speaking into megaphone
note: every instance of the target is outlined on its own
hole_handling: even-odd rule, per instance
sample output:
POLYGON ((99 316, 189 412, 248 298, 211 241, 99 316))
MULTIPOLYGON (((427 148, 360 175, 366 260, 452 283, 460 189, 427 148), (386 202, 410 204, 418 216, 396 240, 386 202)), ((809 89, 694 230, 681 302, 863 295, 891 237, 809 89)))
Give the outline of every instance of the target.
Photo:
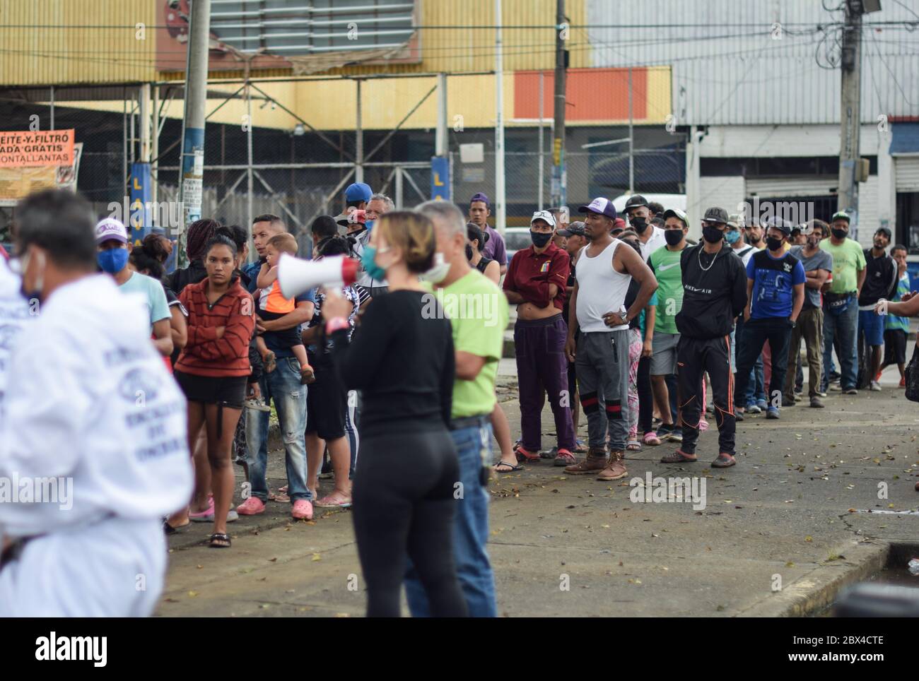
POLYGON ((348 340, 351 302, 327 292, 325 333, 335 366, 362 391, 361 458, 354 479, 357 553, 369 617, 399 617, 405 556, 425 585, 432 614, 467 614, 453 561, 456 449, 448 423, 454 353, 449 320, 418 274, 434 264, 430 220, 397 211, 377 221, 361 260, 389 293, 374 298, 348 340), (432 311, 434 314, 432 314, 432 311))

